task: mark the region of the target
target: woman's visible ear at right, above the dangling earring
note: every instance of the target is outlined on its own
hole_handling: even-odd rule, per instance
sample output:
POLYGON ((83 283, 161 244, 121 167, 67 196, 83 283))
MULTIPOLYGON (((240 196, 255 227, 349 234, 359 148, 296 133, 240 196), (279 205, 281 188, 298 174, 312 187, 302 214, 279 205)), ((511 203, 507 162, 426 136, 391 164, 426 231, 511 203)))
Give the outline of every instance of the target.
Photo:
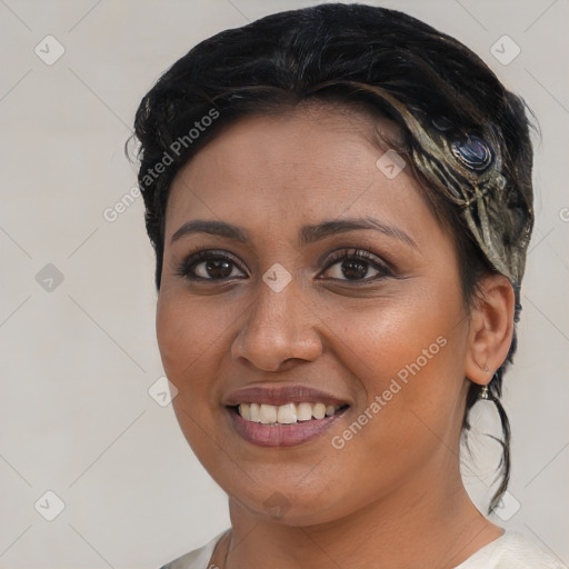
POLYGON ((513 336, 515 305, 513 288, 503 274, 488 274, 481 280, 470 312, 465 362, 465 376, 475 383, 489 383, 505 362, 513 336))

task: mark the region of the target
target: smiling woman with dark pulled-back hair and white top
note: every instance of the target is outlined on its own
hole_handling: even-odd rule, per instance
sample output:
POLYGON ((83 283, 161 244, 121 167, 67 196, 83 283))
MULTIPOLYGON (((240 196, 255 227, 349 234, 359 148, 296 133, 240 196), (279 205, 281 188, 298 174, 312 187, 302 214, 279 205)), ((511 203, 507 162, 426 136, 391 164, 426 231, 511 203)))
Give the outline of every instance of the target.
POLYGON ((157 333, 231 528, 164 568, 556 568, 475 507, 516 349, 528 120, 465 46, 322 4, 210 38, 136 119, 157 333))

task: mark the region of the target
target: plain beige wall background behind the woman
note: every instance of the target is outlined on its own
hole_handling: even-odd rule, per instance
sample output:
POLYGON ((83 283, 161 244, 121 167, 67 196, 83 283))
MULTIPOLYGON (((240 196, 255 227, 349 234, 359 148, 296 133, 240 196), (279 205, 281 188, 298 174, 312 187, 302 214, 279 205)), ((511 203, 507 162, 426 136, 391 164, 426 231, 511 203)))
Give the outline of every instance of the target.
MULTIPOLYGON (((141 199, 112 222, 103 211, 136 184, 123 143, 166 68, 217 31, 313 3, 0 0, 0 567, 158 568, 228 526, 171 406, 148 393, 162 369, 141 199), (51 66, 34 52, 57 54, 48 34, 64 48, 51 66), (40 515, 57 512, 48 490, 64 502, 53 521, 40 515)), ((569 562, 569 3, 377 3, 458 37, 539 118, 502 515, 569 562), (507 66, 490 52, 503 34, 521 48, 507 66)))

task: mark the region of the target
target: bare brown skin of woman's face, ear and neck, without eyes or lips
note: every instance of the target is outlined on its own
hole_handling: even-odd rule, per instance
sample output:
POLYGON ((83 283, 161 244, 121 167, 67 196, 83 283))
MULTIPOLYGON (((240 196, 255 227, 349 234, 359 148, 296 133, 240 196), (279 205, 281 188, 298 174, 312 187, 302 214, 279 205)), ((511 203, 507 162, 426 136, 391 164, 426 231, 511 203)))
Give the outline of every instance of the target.
POLYGON ((468 498, 458 457, 469 381, 487 383, 506 358, 513 291, 489 276, 486 299, 467 309, 453 240, 410 168, 388 179, 376 166, 392 137, 387 119, 298 107, 240 120, 174 179, 157 335, 180 427, 229 495, 232 530, 211 560, 219 567, 450 568, 502 532, 468 498), (363 217, 413 244, 370 229, 298 242, 301 226, 363 217), (238 224, 250 242, 207 233, 171 242, 196 219, 238 224), (193 270, 204 280, 179 274, 198 247, 230 253, 230 277, 214 280, 203 259, 193 270), (329 259, 353 248, 390 272, 362 261, 350 280, 350 261, 329 259), (280 292, 262 280, 276 262, 292 277, 280 292), (332 437, 437 338, 446 340, 438 353, 335 448, 332 437), (350 408, 315 440, 259 447, 222 405, 252 383, 307 385, 350 408), (271 499, 281 508, 268 509, 271 499))

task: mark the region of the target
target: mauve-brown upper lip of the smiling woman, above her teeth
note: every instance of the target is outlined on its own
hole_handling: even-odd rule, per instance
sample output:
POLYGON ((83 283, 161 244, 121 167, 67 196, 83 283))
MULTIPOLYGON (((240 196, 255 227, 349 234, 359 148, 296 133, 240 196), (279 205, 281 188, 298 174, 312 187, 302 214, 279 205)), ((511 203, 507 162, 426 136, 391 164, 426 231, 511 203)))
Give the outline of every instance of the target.
POLYGON ((325 403, 341 407, 351 406, 351 401, 340 399, 327 391, 302 385, 253 385, 231 391, 222 401, 226 407, 239 403, 266 403, 281 406, 287 403, 325 403))

